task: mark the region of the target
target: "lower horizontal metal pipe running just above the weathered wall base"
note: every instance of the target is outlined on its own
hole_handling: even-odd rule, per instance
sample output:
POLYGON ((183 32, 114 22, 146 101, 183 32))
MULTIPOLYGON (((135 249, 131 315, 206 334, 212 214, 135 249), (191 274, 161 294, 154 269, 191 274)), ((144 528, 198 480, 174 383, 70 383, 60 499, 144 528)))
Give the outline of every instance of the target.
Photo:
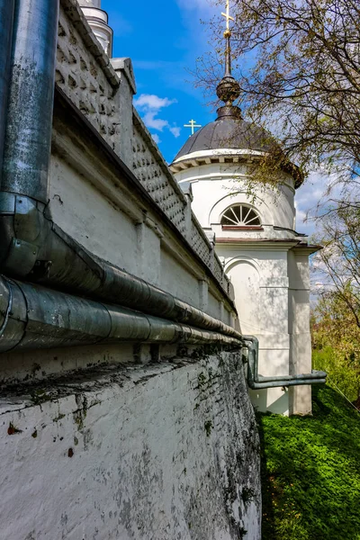
POLYGON ((131 341, 240 345, 217 332, 0 276, 0 353, 131 341))

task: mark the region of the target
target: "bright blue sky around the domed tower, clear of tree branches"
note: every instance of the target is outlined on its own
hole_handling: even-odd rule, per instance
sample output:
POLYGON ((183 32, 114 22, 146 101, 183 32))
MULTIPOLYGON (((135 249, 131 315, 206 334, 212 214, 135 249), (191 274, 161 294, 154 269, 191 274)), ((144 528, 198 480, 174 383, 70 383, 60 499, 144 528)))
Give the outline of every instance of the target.
MULTIPOLYGON (((201 125, 214 120, 211 98, 194 87, 196 58, 210 52, 206 22, 224 10, 225 0, 102 0, 112 26, 113 57, 130 57, 138 94, 135 106, 158 147, 171 162, 190 135, 190 120, 201 125), (202 23, 204 22, 204 23, 202 23)), ((215 95, 212 96, 214 100, 215 95)), ((325 178, 314 173, 297 190, 297 229, 311 234, 313 221, 304 221, 324 190, 325 178)))

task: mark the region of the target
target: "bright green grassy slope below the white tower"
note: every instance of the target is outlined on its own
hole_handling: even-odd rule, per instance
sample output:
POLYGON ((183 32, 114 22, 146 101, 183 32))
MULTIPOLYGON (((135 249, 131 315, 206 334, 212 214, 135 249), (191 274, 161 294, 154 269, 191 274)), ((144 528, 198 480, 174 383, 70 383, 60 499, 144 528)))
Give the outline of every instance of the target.
POLYGON ((313 414, 257 414, 262 540, 360 540, 360 413, 313 387, 313 414))

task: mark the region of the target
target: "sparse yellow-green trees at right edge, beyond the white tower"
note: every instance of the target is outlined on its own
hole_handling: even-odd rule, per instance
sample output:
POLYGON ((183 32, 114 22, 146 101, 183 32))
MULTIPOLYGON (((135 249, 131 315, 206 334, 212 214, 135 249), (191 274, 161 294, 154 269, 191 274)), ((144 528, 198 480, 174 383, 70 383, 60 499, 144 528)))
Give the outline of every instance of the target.
POLYGON ((346 200, 329 208, 319 225, 324 247, 313 261, 314 364, 360 408, 360 210, 346 200))

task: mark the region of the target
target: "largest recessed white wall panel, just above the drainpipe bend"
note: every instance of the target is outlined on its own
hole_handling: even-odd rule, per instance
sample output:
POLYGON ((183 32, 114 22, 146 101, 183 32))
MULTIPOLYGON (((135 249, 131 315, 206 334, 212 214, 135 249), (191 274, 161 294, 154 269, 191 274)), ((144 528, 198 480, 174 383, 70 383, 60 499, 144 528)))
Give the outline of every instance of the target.
MULTIPOLYGON (((99 178, 102 171, 89 171, 91 168, 89 163, 85 176, 64 159, 51 157, 49 200, 53 219, 95 255, 141 277, 136 225, 113 199, 96 189, 94 183, 103 180, 99 178)), ((124 193, 118 193, 118 200, 121 195, 124 193)), ((141 212, 136 213, 140 219, 141 212)))

